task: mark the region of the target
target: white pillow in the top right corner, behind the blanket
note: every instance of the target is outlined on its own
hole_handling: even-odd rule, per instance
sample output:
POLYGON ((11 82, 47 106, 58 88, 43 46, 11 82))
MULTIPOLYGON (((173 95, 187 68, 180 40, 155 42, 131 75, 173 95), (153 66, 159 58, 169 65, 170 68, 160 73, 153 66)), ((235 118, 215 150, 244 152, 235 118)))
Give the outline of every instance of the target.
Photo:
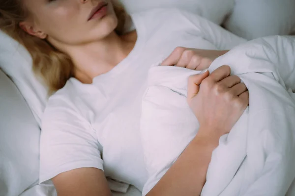
POLYGON ((295 29, 295 0, 236 0, 224 26, 248 40, 289 35, 295 29))

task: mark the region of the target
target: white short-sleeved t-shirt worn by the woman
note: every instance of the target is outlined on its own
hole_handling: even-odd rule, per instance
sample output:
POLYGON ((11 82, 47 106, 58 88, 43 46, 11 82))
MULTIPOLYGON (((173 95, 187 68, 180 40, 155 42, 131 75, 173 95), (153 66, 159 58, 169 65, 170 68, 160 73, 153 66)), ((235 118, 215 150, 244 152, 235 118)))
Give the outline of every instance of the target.
POLYGON ((149 10, 132 15, 132 20, 138 40, 122 62, 92 84, 69 79, 49 99, 42 120, 40 183, 61 172, 93 167, 142 190, 148 173, 139 121, 148 69, 178 46, 231 49, 245 42, 177 9, 149 10))

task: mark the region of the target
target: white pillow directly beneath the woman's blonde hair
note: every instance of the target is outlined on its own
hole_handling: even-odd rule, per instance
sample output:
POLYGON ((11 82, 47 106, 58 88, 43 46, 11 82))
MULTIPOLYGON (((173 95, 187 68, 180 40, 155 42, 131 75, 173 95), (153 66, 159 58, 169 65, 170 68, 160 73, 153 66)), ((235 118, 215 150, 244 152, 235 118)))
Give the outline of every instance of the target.
POLYGON ((0 69, 18 87, 40 126, 48 88, 35 77, 31 57, 24 47, 1 31, 0 43, 0 69))

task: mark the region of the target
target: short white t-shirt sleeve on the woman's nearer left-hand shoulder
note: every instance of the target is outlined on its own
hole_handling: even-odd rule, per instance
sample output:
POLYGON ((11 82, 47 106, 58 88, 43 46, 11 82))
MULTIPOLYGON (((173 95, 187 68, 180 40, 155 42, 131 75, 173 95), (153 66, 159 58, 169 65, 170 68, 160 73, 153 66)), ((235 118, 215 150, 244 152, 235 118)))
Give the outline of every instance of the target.
POLYGON ((75 108, 60 96, 49 100, 42 119, 40 183, 78 168, 103 170, 102 147, 89 122, 75 108))

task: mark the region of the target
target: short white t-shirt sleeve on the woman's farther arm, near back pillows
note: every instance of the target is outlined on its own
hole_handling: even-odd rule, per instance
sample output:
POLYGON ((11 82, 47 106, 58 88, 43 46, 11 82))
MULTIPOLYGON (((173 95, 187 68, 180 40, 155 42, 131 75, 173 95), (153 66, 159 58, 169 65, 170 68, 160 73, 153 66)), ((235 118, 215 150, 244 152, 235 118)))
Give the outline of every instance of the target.
POLYGON ((213 44, 217 49, 233 49, 247 42, 247 40, 236 36, 228 30, 216 25, 207 19, 190 12, 181 12, 188 22, 194 26, 196 33, 213 44))

